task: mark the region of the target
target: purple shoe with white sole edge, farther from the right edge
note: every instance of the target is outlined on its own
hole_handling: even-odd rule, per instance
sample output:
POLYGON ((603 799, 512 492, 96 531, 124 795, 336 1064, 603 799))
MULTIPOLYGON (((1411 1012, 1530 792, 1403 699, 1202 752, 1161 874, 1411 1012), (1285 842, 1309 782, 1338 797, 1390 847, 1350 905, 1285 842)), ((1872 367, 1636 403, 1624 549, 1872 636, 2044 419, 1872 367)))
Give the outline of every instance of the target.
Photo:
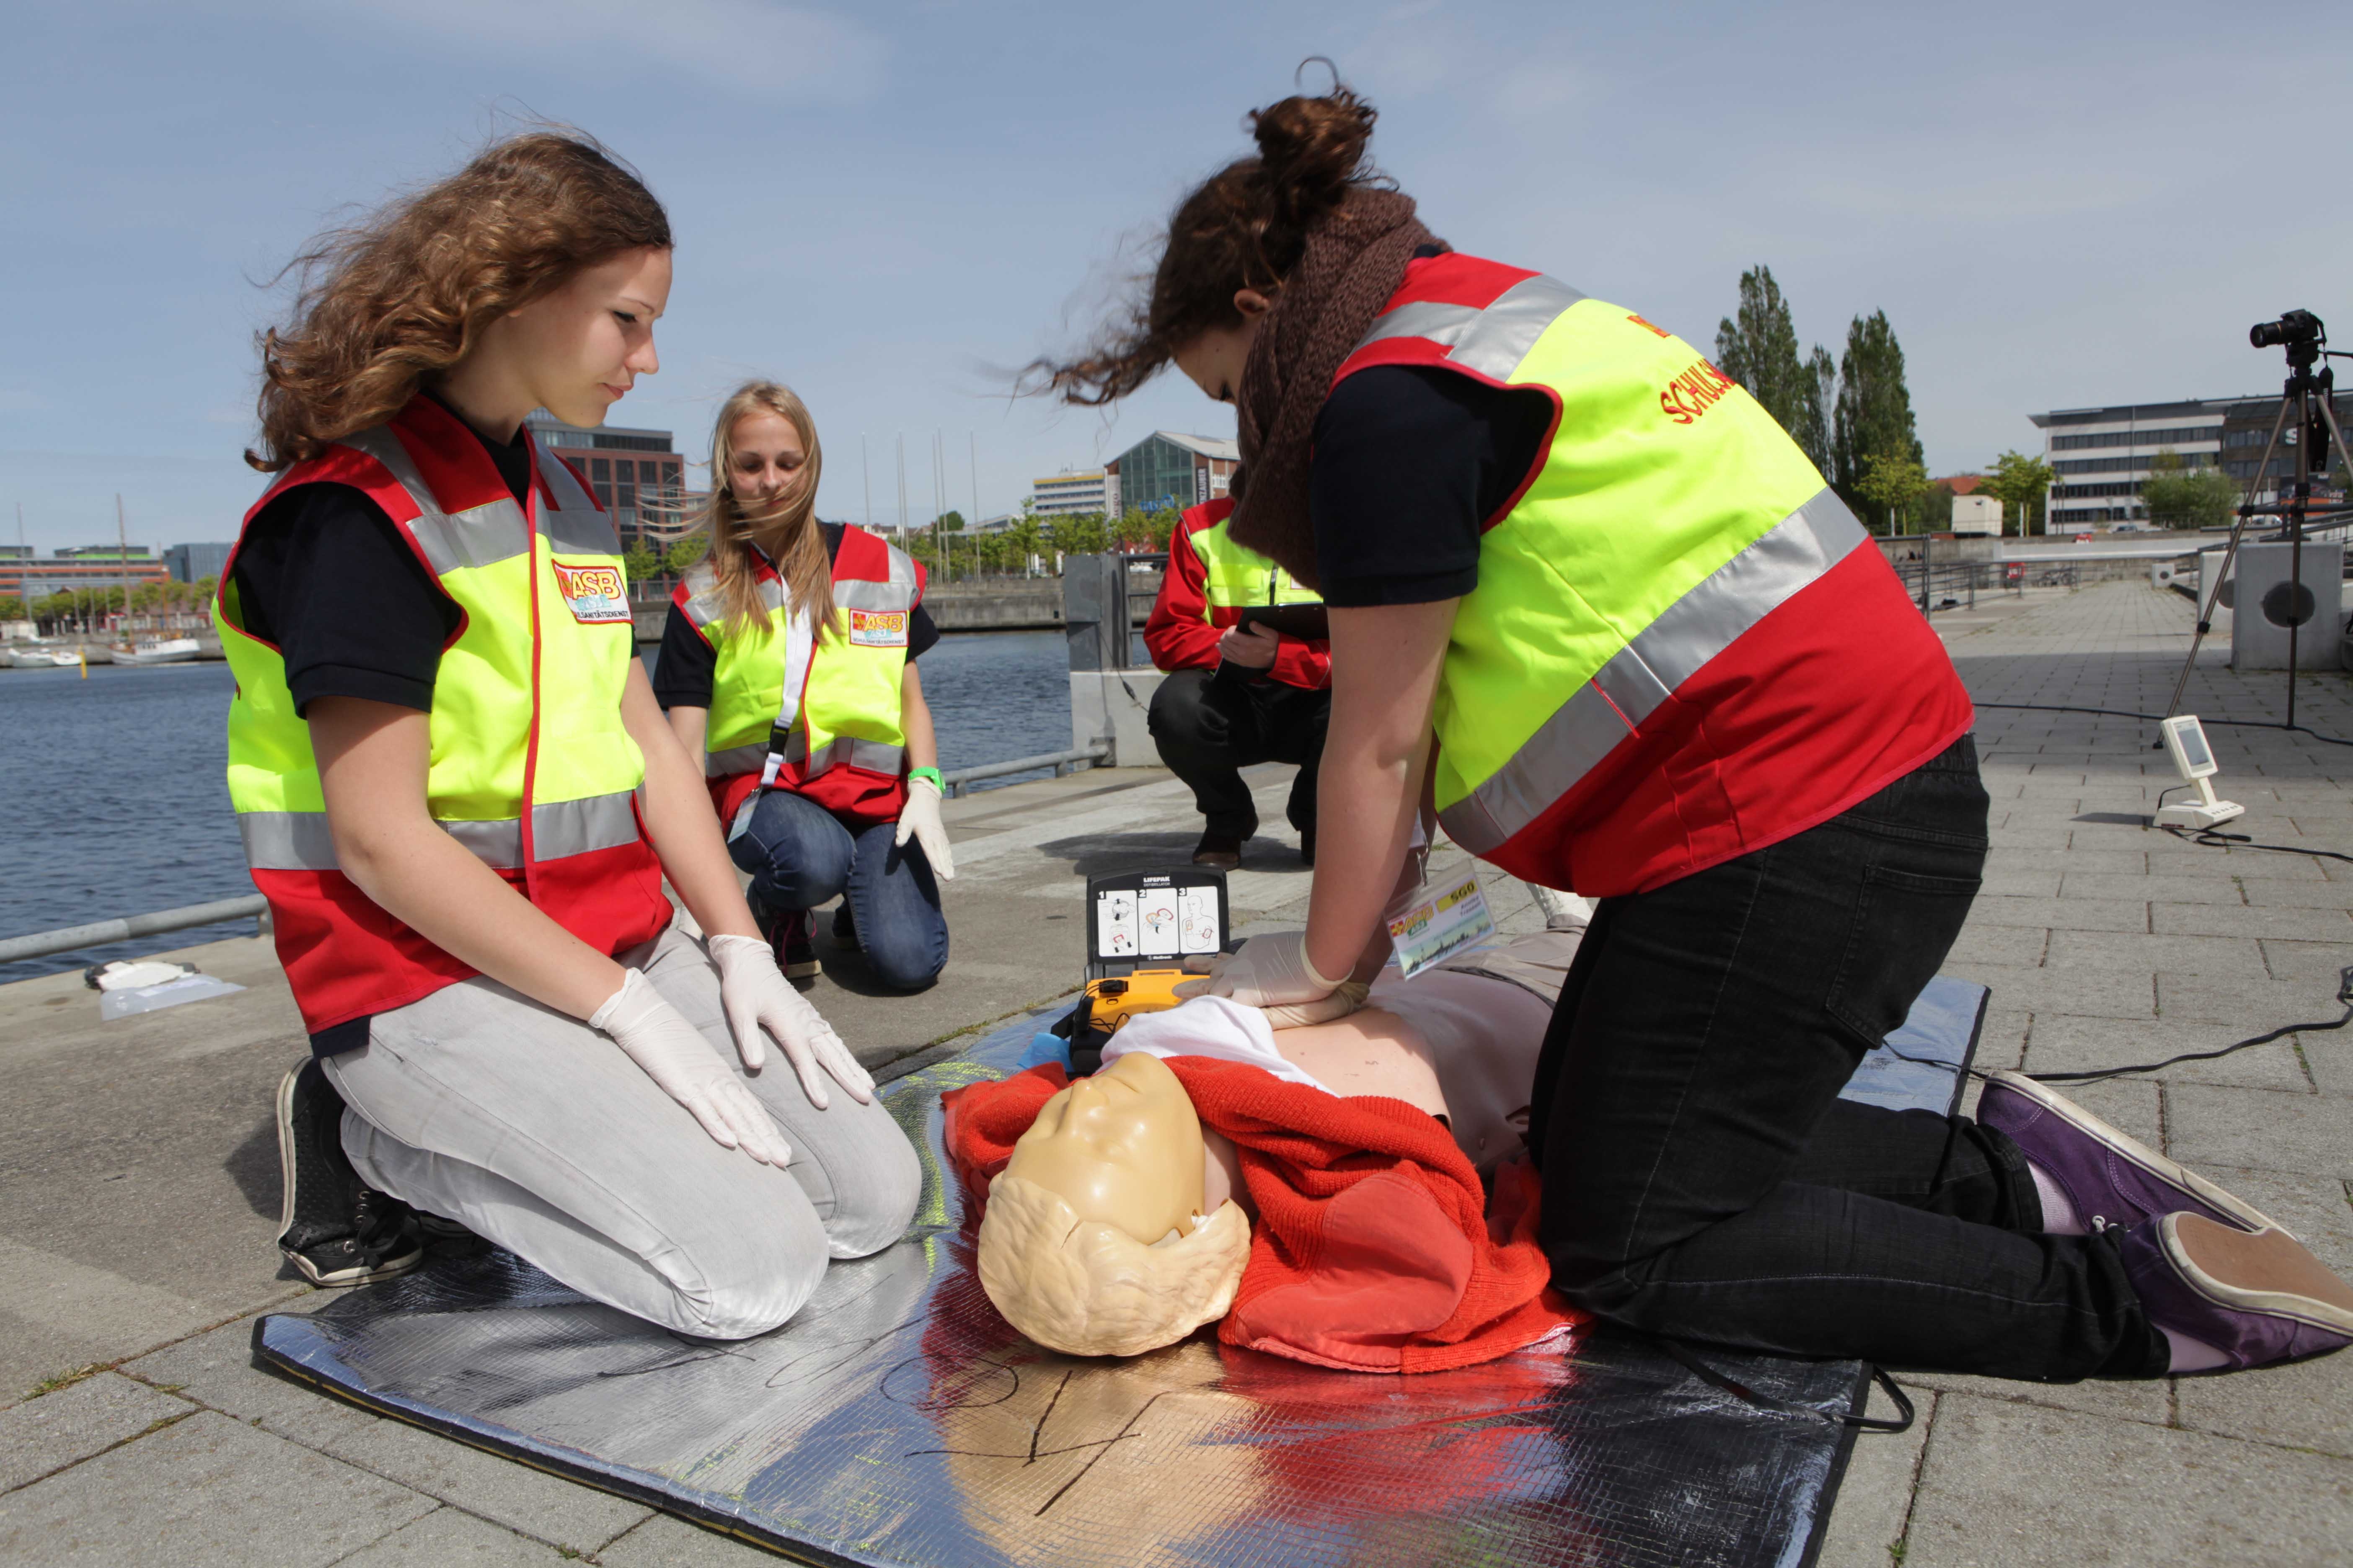
POLYGON ((1977 1119, 2007 1133, 2026 1159, 2066 1190, 2085 1229, 2195 1213, 2233 1229, 2275 1229, 2294 1239, 2254 1204, 2231 1197, 2024 1072, 1995 1072, 1986 1079, 1977 1119))

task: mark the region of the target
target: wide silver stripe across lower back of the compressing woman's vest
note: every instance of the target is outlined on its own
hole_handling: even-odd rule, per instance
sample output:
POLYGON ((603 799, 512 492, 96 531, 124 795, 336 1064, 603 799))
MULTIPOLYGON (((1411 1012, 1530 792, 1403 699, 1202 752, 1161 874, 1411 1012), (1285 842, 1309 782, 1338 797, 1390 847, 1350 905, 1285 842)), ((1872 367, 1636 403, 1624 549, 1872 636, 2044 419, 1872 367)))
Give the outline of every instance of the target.
POLYGON ((1447 837, 1475 856, 1501 849, 1577 788, 1701 665, 1739 642, 1800 588, 1819 581, 1864 538, 1864 524, 1854 522, 1838 494, 1821 489, 1668 604, 1492 778, 1440 811, 1447 837))

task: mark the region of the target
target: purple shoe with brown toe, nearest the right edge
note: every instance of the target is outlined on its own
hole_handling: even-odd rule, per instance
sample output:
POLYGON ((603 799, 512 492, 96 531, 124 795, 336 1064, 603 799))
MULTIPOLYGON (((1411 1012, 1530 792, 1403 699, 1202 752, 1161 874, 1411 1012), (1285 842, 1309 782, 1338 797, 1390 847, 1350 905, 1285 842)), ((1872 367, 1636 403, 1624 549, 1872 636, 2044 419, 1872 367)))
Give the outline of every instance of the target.
POLYGON ((2118 1237, 2148 1321, 2231 1356, 2214 1371, 2301 1361, 2353 1345, 2353 1286, 2280 1229, 2247 1234, 2169 1213, 2118 1237))

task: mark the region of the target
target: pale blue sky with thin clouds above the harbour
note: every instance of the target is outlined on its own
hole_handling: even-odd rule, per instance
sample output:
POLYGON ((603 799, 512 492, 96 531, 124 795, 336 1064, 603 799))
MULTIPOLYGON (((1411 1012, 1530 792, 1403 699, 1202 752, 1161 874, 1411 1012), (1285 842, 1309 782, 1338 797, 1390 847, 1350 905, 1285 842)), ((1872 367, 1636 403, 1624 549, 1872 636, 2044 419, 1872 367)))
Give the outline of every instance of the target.
POLYGON ((1240 115, 1329 54, 1379 162, 1459 249, 1713 343, 1765 261, 1800 336, 1885 308, 1937 473, 2033 449, 2028 411, 2268 390, 2245 329, 2353 343, 2341 150, 2282 150, 2353 82, 2353 9, 2266 5, 859 7, 767 0, 38 2, 0 61, 0 538, 231 538, 259 480, 256 327, 320 226, 520 118, 581 125, 668 202, 664 371, 614 423, 692 454, 744 376, 809 400, 831 517, 929 515, 1231 433, 1169 378, 1113 416, 1012 402, 1240 115), (2247 12, 2242 16, 2252 16, 2247 12), (2297 190, 2297 172, 2308 172, 2297 190))

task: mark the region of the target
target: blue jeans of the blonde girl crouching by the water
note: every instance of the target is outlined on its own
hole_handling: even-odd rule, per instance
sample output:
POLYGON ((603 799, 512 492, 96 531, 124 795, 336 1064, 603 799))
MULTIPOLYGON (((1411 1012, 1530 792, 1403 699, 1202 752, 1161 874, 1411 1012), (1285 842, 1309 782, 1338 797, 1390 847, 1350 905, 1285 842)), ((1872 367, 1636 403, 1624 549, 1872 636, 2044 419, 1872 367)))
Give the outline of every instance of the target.
POLYGON ((838 818, 791 790, 760 790, 727 853, 769 910, 814 910, 849 893, 849 919, 875 980, 922 990, 948 964, 948 917, 922 844, 892 844, 899 823, 838 818))

